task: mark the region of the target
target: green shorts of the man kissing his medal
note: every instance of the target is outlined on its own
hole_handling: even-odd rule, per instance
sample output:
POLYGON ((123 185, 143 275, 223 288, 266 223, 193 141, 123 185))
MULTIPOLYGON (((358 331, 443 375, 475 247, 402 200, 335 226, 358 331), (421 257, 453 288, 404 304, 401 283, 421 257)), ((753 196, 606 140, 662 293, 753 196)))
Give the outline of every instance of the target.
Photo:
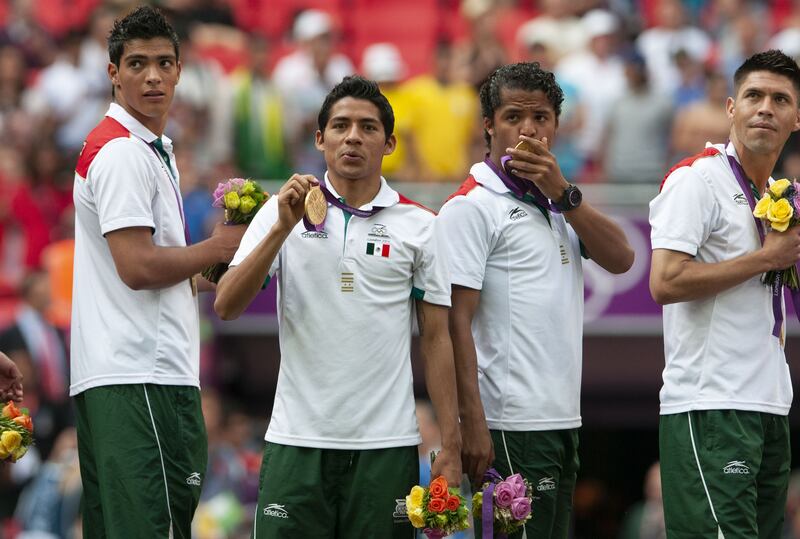
MULTIPOLYGON (((490 431, 494 468, 503 477, 519 473, 533 486, 529 539, 566 539, 572 520, 572 493, 578 476, 578 429, 490 431)), ((475 537, 481 523, 475 519, 475 537)), ((509 538, 522 537, 522 532, 509 538)))

